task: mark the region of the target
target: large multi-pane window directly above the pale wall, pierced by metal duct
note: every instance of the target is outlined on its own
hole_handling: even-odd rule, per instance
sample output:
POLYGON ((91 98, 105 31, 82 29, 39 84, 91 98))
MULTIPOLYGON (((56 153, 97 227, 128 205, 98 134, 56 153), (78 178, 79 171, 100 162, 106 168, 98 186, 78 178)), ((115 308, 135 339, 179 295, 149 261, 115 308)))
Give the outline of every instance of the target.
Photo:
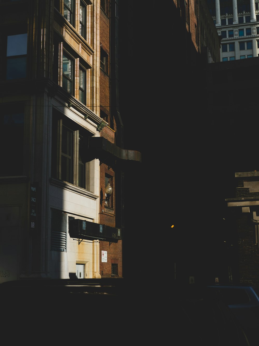
POLYGON ((90 162, 86 162, 89 133, 56 110, 52 122, 51 176, 90 189, 90 162))

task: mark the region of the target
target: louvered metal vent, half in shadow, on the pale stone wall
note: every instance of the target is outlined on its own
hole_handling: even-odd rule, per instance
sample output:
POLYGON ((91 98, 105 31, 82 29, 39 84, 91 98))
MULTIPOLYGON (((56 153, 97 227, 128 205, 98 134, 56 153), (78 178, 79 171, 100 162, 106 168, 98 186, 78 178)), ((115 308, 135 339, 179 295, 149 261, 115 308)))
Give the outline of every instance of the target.
POLYGON ((67 251, 67 215, 51 209, 51 245, 54 251, 67 251))

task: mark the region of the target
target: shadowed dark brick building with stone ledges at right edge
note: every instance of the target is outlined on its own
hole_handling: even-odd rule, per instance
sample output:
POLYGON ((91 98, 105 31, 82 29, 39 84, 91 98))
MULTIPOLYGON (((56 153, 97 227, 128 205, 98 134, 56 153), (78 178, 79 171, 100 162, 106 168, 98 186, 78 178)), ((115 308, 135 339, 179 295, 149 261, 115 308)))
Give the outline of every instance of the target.
POLYGON ((228 217, 236 230, 235 282, 259 286, 259 172, 235 173, 236 195, 226 198, 228 217))

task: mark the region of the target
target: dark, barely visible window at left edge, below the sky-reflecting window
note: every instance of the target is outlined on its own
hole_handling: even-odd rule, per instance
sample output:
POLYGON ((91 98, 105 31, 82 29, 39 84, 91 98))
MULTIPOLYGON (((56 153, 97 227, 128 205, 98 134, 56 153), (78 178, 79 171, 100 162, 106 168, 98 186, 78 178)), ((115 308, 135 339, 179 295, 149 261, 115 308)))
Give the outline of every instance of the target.
POLYGON ((23 103, 1 104, 0 143, 4 150, 1 152, 0 176, 23 175, 24 116, 23 103))

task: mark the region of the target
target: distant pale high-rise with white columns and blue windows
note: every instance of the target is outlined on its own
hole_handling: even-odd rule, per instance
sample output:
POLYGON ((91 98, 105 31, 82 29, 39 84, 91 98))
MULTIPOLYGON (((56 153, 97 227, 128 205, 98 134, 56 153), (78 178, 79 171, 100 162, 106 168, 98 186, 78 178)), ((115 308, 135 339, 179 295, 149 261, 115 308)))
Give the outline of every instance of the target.
POLYGON ((259 7, 255 0, 208 0, 208 7, 221 37, 220 61, 258 56, 259 7))

